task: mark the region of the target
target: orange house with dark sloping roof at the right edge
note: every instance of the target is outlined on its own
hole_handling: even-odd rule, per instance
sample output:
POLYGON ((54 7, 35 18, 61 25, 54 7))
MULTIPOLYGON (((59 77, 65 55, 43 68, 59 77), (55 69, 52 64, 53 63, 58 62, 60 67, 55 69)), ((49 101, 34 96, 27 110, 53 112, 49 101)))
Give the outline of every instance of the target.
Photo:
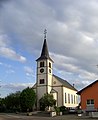
POLYGON ((84 111, 98 110, 98 80, 80 90, 81 108, 84 111))

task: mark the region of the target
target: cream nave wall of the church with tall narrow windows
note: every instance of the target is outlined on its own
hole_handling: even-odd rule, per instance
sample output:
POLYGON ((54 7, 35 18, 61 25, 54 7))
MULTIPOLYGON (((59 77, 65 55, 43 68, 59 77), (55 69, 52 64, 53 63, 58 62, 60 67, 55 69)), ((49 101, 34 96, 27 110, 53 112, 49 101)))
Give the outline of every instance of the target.
POLYGON ((66 107, 76 107, 78 106, 78 95, 77 91, 71 90, 69 88, 63 87, 62 83, 53 77, 53 89, 57 91, 57 101, 58 106, 66 107), (66 93, 66 103, 65 103, 65 93, 66 93), (70 103, 68 103, 68 94, 70 95, 70 103), (73 95, 73 103, 71 102, 71 95, 73 95), (74 101, 75 96, 75 101, 74 101))

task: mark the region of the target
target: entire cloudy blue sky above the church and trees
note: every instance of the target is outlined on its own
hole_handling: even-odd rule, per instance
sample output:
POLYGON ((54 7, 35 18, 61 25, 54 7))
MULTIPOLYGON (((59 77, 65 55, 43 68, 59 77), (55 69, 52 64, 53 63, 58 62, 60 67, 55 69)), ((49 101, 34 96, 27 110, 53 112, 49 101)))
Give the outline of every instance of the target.
POLYGON ((45 28, 54 74, 78 90, 98 79, 98 0, 1 0, 1 97, 36 82, 45 28))

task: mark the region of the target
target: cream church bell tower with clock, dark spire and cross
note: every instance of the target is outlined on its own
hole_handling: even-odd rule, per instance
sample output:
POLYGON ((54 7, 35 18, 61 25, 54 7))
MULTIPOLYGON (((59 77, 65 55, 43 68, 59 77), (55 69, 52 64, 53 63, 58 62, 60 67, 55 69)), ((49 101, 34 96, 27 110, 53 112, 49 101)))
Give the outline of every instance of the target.
POLYGON ((52 63, 53 60, 49 56, 48 46, 46 41, 46 29, 44 31, 44 43, 40 57, 37 61, 37 108, 39 100, 45 93, 50 93, 52 89, 52 63))

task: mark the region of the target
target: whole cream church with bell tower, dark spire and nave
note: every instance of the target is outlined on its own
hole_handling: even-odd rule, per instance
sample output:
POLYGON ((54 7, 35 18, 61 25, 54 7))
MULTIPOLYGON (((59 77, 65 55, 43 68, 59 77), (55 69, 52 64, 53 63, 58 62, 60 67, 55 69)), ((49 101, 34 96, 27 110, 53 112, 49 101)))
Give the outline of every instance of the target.
POLYGON ((78 106, 76 88, 66 80, 53 74, 53 63, 48 51, 46 32, 40 57, 36 60, 36 83, 33 89, 37 95, 37 109, 40 109, 39 100, 45 93, 52 94, 56 105, 68 108, 78 106))

